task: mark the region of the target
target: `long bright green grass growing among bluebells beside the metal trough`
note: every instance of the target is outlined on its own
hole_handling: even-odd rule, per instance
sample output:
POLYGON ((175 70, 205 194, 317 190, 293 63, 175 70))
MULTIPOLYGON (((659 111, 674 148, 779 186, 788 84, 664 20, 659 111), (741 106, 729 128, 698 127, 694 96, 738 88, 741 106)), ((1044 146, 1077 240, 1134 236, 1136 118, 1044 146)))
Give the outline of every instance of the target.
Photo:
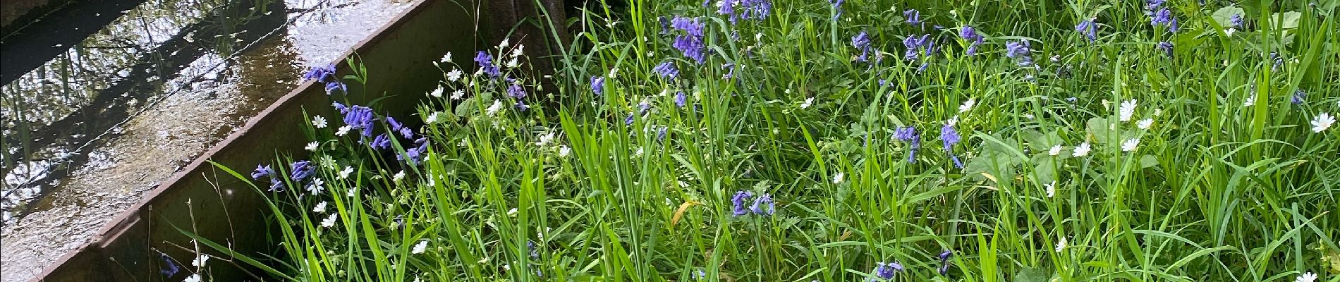
POLYGON ((890 281, 1340 281, 1340 128, 1309 124, 1340 111, 1336 1, 1171 0, 1175 32, 1138 1, 770 4, 732 23, 697 0, 588 3, 557 90, 503 68, 527 111, 457 55, 419 107, 419 164, 395 158, 414 139, 370 148, 327 116, 315 175, 268 192, 281 253, 243 262, 284 281, 884 281, 891 262, 890 281), (705 61, 662 29, 675 16, 704 25, 705 61), (919 35, 937 47, 909 60, 919 35), (775 213, 750 211, 765 194, 775 213))

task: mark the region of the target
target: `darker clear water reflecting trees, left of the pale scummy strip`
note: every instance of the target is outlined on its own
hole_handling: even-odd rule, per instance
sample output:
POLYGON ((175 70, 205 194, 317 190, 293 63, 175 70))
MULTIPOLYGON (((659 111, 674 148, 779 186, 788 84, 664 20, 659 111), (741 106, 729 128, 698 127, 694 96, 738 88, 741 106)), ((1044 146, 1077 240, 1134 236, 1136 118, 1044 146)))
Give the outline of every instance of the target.
MULTIPOLYGON (((277 0, 150 0, 4 86, 0 98, 4 167, 0 172, 11 175, 17 163, 51 162, 44 162, 50 163, 44 170, 28 167, 27 175, 20 175, 40 174, 40 178, 24 183, 5 180, 0 198, 12 202, 8 195, 20 188, 63 179, 70 167, 86 162, 86 154, 106 140, 100 136, 103 132, 130 119, 139 107, 178 90, 189 91, 196 83, 221 79, 214 67, 224 61, 200 63, 202 56, 228 60, 236 49, 281 28, 285 23, 283 4, 277 0)), ((0 206, 9 210, 13 204, 0 206)))

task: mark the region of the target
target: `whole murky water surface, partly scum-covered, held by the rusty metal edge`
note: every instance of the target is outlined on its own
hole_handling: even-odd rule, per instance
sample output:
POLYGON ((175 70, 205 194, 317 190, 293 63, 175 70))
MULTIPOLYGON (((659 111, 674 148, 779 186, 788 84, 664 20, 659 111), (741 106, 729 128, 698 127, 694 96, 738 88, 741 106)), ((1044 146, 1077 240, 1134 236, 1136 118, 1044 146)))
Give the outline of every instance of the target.
POLYGON ((90 16, 115 19, 72 47, 34 48, 58 52, 0 87, 0 281, 87 242, 296 88, 306 65, 340 59, 415 1, 146 0, 90 16))

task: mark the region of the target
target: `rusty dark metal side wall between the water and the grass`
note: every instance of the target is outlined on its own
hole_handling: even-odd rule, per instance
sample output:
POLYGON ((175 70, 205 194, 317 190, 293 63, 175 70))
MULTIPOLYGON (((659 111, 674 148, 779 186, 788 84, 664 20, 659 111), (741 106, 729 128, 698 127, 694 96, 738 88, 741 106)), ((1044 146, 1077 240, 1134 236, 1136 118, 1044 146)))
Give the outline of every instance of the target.
MULTIPOLYGON (((407 118, 414 111, 413 106, 442 78, 430 63, 446 52, 469 55, 476 49, 474 44, 480 39, 476 36, 476 17, 472 15, 478 15, 478 9, 473 8, 477 1, 423 0, 359 41, 344 57, 359 56, 373 79, 367 86, 350 86, 352 95, 348 99, 366 103, 383 94, 391 95, 379 102, 383 114, 407 118)), ((336 65, 336 76, 350 74, 343 60, 336 65)), ((247 255, 273 247, 260 246, 268 241, 263 230, 256 230, 273 225, 264 221, 267 211, 263 210, 261 195, 233 176, 220 174, 208 160, 245 174, 257 163, 273 162, 275 152, 300 156, 306 139, 292 135, 300 132, 300 124, 306 122, 303 111, 336 116, 330 107, 332 99, 335 98, 326 96, 322 84, 300 84, 212 146, 165 184, 146 192, 130 210, 107 222, 96 237, 62 255, 34 281, 180 281, 189 274, 170 278, 158 274, 162 262, 157 251, 163 251, 178 262, 193 257, 172 247, 190 246, 189 238, 177 233, 172 223, 196 229, 200 235, 233 246, 247 255), (222 217, 221 221, 216 221, 218 217, 222 217)), ((202 250, 228 258, 208 247, 202 250)), ((189 267, 189 263, 184 267, 189 267)), ((217 281, 248 278, 244 271, 228 263, 216 262, 209 267, 217 281)), ((185 271, 188 270, 184 269, 185 271)))

